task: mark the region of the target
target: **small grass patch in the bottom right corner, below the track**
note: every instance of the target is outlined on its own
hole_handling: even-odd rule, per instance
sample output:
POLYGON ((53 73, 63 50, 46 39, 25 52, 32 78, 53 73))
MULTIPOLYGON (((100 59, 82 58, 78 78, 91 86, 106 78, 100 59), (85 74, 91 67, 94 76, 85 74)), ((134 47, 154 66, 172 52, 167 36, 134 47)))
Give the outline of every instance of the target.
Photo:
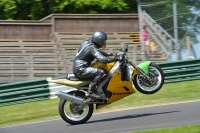
POLYGON ((200 133, 200 125, 150 129, 150 130, 136 131, 132 133, 200 133))

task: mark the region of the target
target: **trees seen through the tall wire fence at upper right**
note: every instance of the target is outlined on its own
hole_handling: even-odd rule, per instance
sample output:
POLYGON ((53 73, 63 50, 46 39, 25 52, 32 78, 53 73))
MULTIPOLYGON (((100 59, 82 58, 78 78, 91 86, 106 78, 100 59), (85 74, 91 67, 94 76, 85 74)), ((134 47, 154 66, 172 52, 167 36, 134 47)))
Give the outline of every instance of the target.
MULTIPOLYGON (((168 1, 156 1, 141 0, 142 9, 145 10, 161 27, 163 27, 172 37, 174 36, 173 28, 173 0, 168 1)), ((185 33, 196 38, 196 35, 200 34, 199 19, 192 24, 197 13, 200 9, 200 1, 197 0, 177 0, 177 20, 178 20, 178 35, 181 40, 185 33), (189 26, 192 26, 189 29, 189 26)), ((197 40, 194 40, 197 41, 197 40)), ((182 42, 185 45, 185 41, 182 42)))

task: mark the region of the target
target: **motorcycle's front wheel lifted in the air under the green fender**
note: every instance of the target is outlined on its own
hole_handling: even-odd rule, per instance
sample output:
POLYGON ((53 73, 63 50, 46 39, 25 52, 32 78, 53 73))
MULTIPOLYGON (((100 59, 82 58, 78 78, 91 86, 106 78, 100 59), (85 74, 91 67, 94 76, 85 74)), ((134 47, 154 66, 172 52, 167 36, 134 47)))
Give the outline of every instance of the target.
POLYGON ((161 89, 164 84, 164 74, 162 69, 151 63, 149 65, 149 74, 151 81, 147 80, 143 75, 138 74, 134 77, 133 84, 135 88, 143 94, 154 94, 161 89))

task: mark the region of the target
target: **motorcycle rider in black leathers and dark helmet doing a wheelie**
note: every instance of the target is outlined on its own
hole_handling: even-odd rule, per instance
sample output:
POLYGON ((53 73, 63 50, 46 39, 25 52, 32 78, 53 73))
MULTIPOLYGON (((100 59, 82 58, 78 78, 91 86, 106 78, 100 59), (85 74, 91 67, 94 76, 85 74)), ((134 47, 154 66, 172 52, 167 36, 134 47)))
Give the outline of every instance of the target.
POLYGON ((94 79, 89 84, 87 97, 101 99, 101 96, 96 94, 96 89, 102 79, 106 76, 107 72, 100 68, 91 67, 91 62, 94 59, 102 63, 109 63, 114 61, 121 61, 122 57, 110 58, 112 53, 106 53, 100 49, 104 49, 107 35, 103 31, 96 31, 92 34, 92 40, 84 40, 73 62, 73 73, 77 78, 94 79))

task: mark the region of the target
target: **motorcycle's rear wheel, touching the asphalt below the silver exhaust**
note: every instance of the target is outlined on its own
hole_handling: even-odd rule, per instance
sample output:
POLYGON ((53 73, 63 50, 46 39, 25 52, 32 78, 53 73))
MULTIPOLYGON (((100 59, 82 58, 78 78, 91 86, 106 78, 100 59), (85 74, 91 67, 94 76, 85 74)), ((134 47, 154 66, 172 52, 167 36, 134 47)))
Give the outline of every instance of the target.
POLYGON ((61 99, 58 110, 61 118, 65 122, 71 125, 76 125, 83 124, 90 119, 93 114, 94 106, 93 104, 80 105, 71 103, 65 99, 61 99), (81 109, 79 112, 76 112, 76 108, 79 106, 83 106, 83 109, 81 109))

